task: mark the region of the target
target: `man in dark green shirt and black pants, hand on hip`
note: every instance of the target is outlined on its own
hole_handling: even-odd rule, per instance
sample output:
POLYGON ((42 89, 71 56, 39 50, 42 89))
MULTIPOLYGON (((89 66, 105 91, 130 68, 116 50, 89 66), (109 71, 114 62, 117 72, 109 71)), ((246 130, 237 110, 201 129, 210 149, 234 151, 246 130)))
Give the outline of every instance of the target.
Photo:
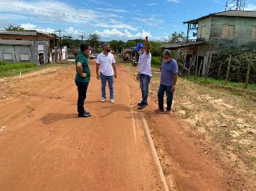
POLYGON ((81 44, 80 52, 75 59, 75 66, 77 74, 75 75, 75 84, 77 85, 78 100, 77 100, 77 112, 78 117, 90 117, 90 112, 86 112, 84 108, 87 87, 90 82, 90 67, 88 64, 88 58, 90 57, 90 45, 81 44))

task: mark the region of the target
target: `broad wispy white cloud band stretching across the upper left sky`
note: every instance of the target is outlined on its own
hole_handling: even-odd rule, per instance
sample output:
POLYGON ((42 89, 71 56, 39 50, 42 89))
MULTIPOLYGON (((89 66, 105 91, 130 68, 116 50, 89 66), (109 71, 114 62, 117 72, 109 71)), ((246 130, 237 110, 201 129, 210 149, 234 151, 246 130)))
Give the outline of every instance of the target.
MULTIPOLYGON (((115 9, 115 11, 121 11, 121 9, 115 9)), ((113 13, 103 13, 103 11, 94 11, 91 9, 76 9, 75 6, 65 4, 61 1, 18 1, 13 0, 8 4, 2 3, 0 6, 0 18, 6 17, 6 12, 9 14, 8 20, 29 19, 34 22, 45 22, 51 24, 61 25, 76 25, 76 26, 101 26, 123 29, 133 29, 136 27, 125 24, 121 19, 122 16, 118 16, 113 13), (4 5, 3 5, 4 4, 4 5), (52 9, 52 8, 55 9, 52 9), (119 19, 117 24, 113 26, 110 19, 119 19)))

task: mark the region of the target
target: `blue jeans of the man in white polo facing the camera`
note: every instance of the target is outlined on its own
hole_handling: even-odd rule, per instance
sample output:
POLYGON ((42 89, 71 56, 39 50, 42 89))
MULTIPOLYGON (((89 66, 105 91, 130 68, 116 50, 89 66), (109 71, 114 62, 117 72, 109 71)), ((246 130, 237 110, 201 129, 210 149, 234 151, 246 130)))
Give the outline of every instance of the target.
POLYGON ((106 98, 106 85, 108 81, 110 99, 113 99, 114 98, 114 76, 105 76, 100 72, 100 79, 101 79, 102 97, 106 98))

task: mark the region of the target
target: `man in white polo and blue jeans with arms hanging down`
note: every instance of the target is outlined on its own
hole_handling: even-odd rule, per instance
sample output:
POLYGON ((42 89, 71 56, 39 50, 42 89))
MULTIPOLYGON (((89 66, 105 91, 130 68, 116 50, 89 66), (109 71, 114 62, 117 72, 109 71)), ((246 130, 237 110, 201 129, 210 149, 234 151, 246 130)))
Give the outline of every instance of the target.
POLYGON ((103 52, 100 53, 96 60, 96 74, 97 79, 101 79, 101 102, 105 102, 106 96, 106 84, 110 91, 110 103, 115 103, 114 99, 114 77, 118 77, 115 67, 115 58, 110 53, 110 44, 103 44, 103 52), (99 74, 100 69, 100 74, 99 74))

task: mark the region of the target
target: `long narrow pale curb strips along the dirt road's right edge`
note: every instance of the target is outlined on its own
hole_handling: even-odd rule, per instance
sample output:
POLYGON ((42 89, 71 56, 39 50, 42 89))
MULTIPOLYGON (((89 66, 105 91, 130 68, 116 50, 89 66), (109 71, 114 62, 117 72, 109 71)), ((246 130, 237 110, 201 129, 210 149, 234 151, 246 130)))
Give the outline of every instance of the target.
MULTIPOLYGON (((133 129, 136 129, 136 127, 135 127, 136 124, 134 122, 133 109, 131 109, 131 115, 132 115, 132 119, 133 119, 133 129)), ((166 181, 166 177, 163 174, 163 168, 161 166, 161 162, 160 162, 159 157, 157 155, 156 147, 155 147, 155 145, 153 143, 153 139, 151 137, 151 133, 149 131, 148 124, 146 122, 146 119, 144 117, 143 112, 140 112, 140 116, 141 116, 141 121, 143 123, 143 129, 144 129, 144 132, 146 134, 146 138, 147 138, 148 144, 149 144, 149 146, 151 148, 151 155, 153 156, 153 160, 154 160, 154 162, 156 164, 156 167, 158 168, 158 173, 160 175, 161 182, 163 183, 164 190, 169 191, 169 187, 168 187, 168 184, 167 184, 167 181, 166 181)))

